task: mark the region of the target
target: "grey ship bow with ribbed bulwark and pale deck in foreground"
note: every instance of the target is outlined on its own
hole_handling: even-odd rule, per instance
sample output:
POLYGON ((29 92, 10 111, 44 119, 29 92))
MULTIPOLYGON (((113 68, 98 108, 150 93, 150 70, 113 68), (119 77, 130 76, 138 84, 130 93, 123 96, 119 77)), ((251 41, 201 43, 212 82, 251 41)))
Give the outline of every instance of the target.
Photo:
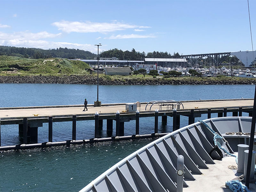
MULTIPOLYGON (((181 188, 183 183, 183 191, 229 191, 225 182, 242 173, 228 165, 236 164, 237 144, 248 144, 249 136, 226 133, 250 132, 251 122, 252 117, 220 117, 183 127, 127 156, 80 192, 176 192, 177 183, 181 188), (215 138, 215 145, 216 133, 222 138, 215 138), (184 170, 178 178, 180 155, 184 157, 184 170)), ((256 185, 250 184, 250 190, 256 191, 256 185)))

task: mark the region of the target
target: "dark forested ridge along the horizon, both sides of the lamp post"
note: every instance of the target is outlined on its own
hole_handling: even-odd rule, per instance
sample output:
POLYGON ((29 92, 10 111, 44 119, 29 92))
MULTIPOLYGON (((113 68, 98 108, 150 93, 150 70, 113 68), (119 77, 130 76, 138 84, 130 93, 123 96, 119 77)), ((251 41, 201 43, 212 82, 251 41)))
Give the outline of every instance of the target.
MULTIPOLYGON (((65 48, 57 48, 57 49, 39 49, 39 48, 25 48, 25 47, 11 47, 11 46, 1 46, 0 45, 0 55, 6 56, 16 56, 22 58, 32 58, 32 59, 45 59, 45 58, 67 58, 67 59, 93 59, 97 57, 97 54, 94 54, 89 51, 84 51, 80 49, 68 49, 65 48)), ((168 52, 148 52, 145 53, 135 51, 132 49, 131 51, 123 51, 121 49, 110 49, 108 51, 103 51, 100 53, 99 57, 117 57, 119 60, 144 60, 145 58, 181 58, 178 52, 174 52, 173 54, 168 52)), ((209 60, 207 58, 206 60, 209 60)), ((238 63, 238 59, 236 56, 229 56, 225 59, 225 62, 234 62, 238 63)))

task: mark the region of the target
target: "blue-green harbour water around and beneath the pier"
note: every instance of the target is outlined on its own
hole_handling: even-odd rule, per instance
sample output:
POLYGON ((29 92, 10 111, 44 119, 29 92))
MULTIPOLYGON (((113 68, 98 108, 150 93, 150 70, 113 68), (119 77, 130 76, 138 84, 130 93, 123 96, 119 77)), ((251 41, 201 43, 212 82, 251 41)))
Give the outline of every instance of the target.
MULTIPOLYGON (((102 103, 150 100, 202 100, 253 98, 255 85, 101 85, 102 103)), ((96 99, 97 85, 0 84, 0 107, 88 104, 96 99)), ((228 114, 231 115, 231 114, 228 114)), ((243 114, 248 116, 247 113, 243 114)), ((216 116, 215 114, 213 117, 216 116)), ((206 119, 202 115, 199 119, 206 119)), ((159 132, 172 131, 159 119, 159 132)), ((182 117, 180 126, 188 124, 182 117)), ((113 124, 115 127, 115 123, 113 124)), ((125 122, 125 135, 135 133, 135 121, 125 122)), ((152 133, 153 118, 140 119, 140 133, 152 133)), ((115 135, 115 129, 113 135, 115 135)), ((2 125, 2 146, 19 144, 17 125, 2 125)), ((77 139, 94 136, 94 122, 77 122, 77 139)), ((47 141, 48 125, 38 128, 38 142, 47 141)), ((102 137, 106 137, 103 121, 102 137)), ((53 141, 70 140, 72 123, 54 123, 53 141)), ((0 152, 0 191, 78 191, 102 172, 151 142, 152 139, 106 142, 51 149, 0 152)))

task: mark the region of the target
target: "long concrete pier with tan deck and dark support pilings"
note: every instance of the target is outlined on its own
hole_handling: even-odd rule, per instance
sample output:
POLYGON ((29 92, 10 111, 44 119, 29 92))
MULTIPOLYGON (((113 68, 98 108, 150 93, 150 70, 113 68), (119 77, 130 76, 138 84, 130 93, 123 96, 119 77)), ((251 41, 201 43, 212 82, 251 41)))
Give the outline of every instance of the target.
MULTIPOLYGON (((87 105, 88 111, 82 111, 83 105, 79 106, 42 106, 42 107, 18 107, 18 108, 0 108, 0 126, 7 124, 18 124, 20 141, 23 144, 37 143, 38 128, 43 123, 49 125, 49 142, 52 142, 52 122, 72 121, 72 140, 76 140, 76 121, 95 120, 95 138, 102 135, 103 119, 107 120, 107 135, 113 136, 113 120, 116 121, 116 136, 124 135, 124 122, 136 120, 134 127, 135 135, 139 135, 140 124, 139 119, 143 117, 155 118, 154 133, 158 132, 158 118, 162 116, 162 124, 167 124, 167 116, 173 118, 173 130, 180 128, 180 116, 188 116, 188 124, 195 122, 195 117, 201 114, 207 114, 211 118, 212 113, 218 116, 227 116, 228 112, 232 112, 233 116, 241 116, 247 113, 252 116, 253 99, 234 99, 234 100, 198 100, 198 101, 182 101, 184 109, 177 111, 162 107, 161 110, 143 110, 146 103, 141 103, 141 110, 129 112, 124 110, 125 103, 102 104, 101 107, 87 105), (96 109, 101 111, 100 115, 96 114, 96 109), (117 110, 116 110, 117 109, 117 110), (116 112, 115 112, 116 111, 116 112), (121 113, 119 112, 121 111, 121 113), (36 115, 35 115, 36 114, 36 115), (44 114, 44 115, 41 115, 44 114), (47 115, 49 114, 49 115, 47 115)), ((157 105, 153 108, 159 108, 157 105)), ((3 130, 3 129, 2 129, 3 130)), ((0 146, 1 140, 0 127, 0 146)))

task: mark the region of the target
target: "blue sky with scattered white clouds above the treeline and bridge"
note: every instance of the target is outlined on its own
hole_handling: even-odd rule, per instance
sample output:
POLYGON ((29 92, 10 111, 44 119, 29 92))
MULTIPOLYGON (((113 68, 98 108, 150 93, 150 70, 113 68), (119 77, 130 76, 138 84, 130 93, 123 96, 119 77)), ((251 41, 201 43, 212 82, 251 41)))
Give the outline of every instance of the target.
MULTIPOLYGON (((180 54, 252 50, 247 0, 1 0, 0 45, 180 54)), ((252 39, 256 1, 249 0, 252 39)), ((256 44, 254 45, 255 50, 256 44)))

